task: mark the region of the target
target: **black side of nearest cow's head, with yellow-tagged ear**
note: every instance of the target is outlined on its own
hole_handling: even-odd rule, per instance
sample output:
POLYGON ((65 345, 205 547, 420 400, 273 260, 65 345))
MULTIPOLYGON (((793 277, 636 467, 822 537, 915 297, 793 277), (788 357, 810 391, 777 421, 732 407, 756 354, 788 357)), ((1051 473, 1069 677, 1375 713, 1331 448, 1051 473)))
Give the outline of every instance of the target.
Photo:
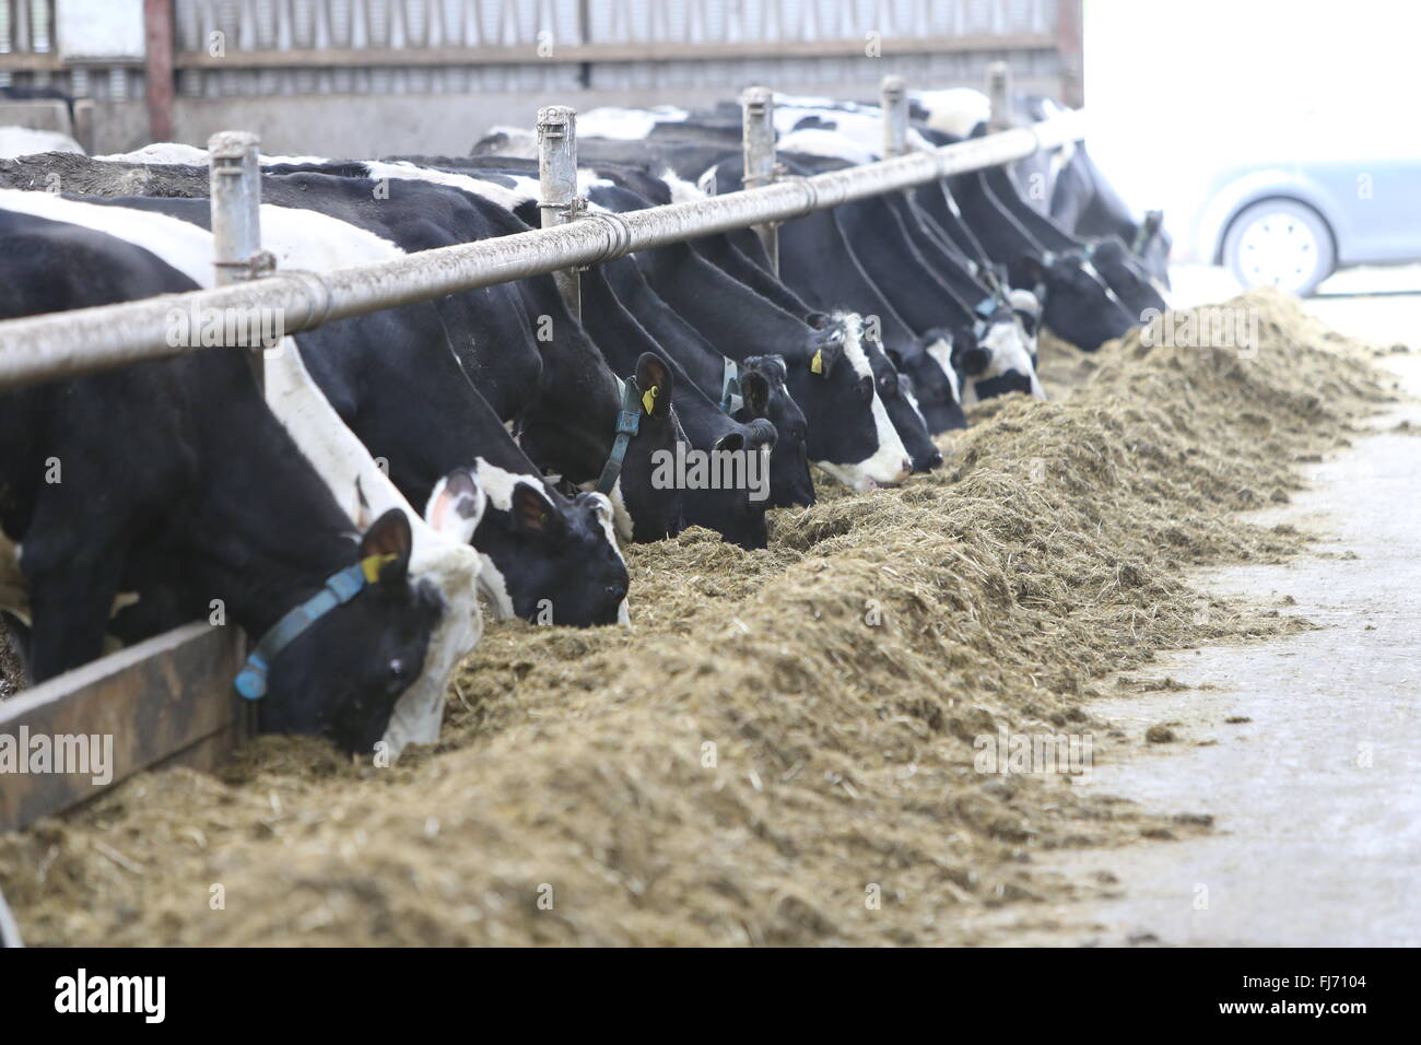
POLYGON ((323 735, 350 752, 375 746, 423 670, 443 610, 432 586, 411 583, 411 545, 398 508, 365 532, 355 559, 365 583, 270 660, 257 705, 263 732, 323 735))

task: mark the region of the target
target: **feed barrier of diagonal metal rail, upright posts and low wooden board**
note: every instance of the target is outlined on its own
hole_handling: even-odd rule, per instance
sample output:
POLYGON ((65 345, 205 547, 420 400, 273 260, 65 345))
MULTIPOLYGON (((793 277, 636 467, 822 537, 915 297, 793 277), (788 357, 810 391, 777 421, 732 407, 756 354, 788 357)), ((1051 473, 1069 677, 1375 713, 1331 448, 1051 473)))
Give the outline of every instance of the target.
MULTIPOLYGON (((993 68, 992 75, 990 88, 1000 100, 1007 81, 1000 70, 993 68)), ((553 273, 580 314, 578 267, 745 227, 759 232, 773 259, 780 222, 1015 162, 1080 138, 1077 121, 1056 118, 909 152, 908 100, 899 77, 885 78, 881 100, 887 114, 882 161, 809 178, 783 176, 774 164, 773 94, 750 88, 742 97, 749 188, 620 215, 585 209, 585 200, 577 196, 576 112, 546 107, 539 114, 543 227, 325 273, 273 270, 270 256, 260 249, 256 135, 213 135, 209 158, 216 287, 0 321, 0 388, 198 350, 169 343, 175 313, 270 310, 283 317, 286 334, 296 334, 350 316, 553 273)), ((260 378, 261 345, 250 347, 260 378)), ((0 701, 0 736, 24 731, 55 736, 102 732, 114 738, 109 779, 102 783, 60 773, 0 779, 0 830, 64 812, 156 765, 216 766, 250 732, 250 708, 232 688, 240 661, 236 628, 189 624, 0 701)))

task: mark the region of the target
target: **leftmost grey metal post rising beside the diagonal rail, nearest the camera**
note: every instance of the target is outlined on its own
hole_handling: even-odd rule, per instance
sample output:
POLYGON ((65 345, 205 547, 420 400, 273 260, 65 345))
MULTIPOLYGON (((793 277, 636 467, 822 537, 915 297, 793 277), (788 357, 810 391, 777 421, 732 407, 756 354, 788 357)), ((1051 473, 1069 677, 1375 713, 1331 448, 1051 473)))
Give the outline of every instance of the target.
MULTIPOLYGON (((260 139, 246 131, 220 131, 207 139, 212 189, 212 264, 216 284, 226 287, 264 274, 271 256, 261 252, 261 168, 260 139)), ((247 354, 266 390, 263 345, 247 354)))

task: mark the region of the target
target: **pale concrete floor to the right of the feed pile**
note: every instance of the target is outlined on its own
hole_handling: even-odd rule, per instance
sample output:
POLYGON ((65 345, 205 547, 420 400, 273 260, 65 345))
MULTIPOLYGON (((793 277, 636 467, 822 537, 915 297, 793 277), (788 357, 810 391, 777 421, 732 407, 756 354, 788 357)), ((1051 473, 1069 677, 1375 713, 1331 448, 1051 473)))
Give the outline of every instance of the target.
MULTIPOLYGON (((1357 337, 1417 344, 1414 296, 1309 307, 1357 337)), ((1421 357, 1384 363, 1421 397, 1421 357)), ((1403 418, 1421 425, 1421 405, 1377 419, 1378 434, 1306 468, 1309 492, 1259 513, 1331 539, 1285 566, 1199 577, 1319 630, 1171 654, 1145 674, 1188 691, 1093 707, 1135 736, 1177 722, 1179 739, 1097 763, 1080 786, 1206 813, 1215 830, 1043 860, 1114 876, 1115 899, 1003 913, 993 943, 1421 945, 1421 438, 1388 431, 1403 418)))

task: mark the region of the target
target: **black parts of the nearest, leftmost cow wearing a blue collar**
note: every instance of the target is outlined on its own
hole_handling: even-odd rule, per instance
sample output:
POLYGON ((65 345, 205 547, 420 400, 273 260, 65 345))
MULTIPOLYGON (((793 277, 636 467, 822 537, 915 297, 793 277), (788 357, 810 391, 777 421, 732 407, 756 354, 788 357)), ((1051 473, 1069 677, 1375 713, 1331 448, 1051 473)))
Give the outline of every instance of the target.
MULTIPOLYGON (((0 317, 195 289, 129 242, 11 206, 16 195, 0 193, 0 317)), ((264 729, 374 746, 443 606, 409 574, 408 516, 352 533, 243 350, 10 390, 0 404, 0 526, 28 582, 36 680, 99 655, 122 591, 166 589, 186 618, 217 599, 270 654, 249 661, 264 729), (310 626, 274 631, 298 607, 310 626)))

